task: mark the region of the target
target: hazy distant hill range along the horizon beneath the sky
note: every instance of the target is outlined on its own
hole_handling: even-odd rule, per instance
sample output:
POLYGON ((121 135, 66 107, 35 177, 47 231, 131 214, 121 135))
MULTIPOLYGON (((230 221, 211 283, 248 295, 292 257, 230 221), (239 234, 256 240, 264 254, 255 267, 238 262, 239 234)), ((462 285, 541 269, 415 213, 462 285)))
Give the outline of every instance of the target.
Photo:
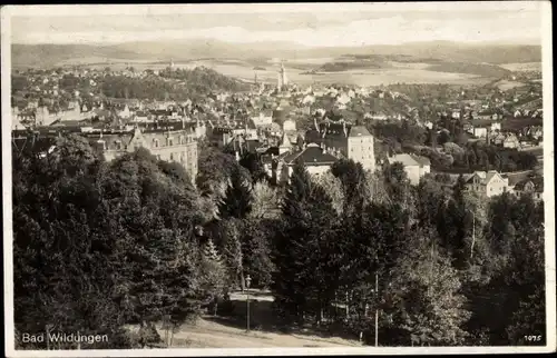
MULTIPOLYGON (((94 44, 12 44, 13 67, 53 67, 84 59, 174 61, 213 59, 305 59, 345 56, 395 56, 468 63, 540 62, 540 46, 463 44, 455 42, 364 46, 356 48, 310 48, 292 42, 267 41, 228 43, 216 40, 145 41, 110 46, 94 44)), ((258 63, 261 64, 261 63, 258 63)))

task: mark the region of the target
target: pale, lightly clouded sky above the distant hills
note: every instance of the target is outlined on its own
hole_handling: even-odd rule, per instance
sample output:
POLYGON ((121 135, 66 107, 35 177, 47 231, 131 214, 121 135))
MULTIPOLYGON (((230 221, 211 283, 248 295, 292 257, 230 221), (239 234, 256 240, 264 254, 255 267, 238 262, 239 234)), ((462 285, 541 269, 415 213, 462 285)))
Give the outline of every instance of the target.
MULTIPOLYGON (((355 47, 422 41, 541 41, 530 2, 215 6, 51 6, 13 11, 16 43, 119 43, 213 39, 355 47)), ((16 9, 19 10, 19 9, 16 9)))

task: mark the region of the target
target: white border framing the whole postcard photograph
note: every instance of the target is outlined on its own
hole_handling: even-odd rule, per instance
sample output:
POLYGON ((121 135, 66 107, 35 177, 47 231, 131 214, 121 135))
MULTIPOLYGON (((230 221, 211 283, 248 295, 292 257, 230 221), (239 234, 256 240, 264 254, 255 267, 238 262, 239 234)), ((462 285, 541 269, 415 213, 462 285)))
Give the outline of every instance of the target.
MULTIPOLYGON (((373 11, 398 11, 401 3, 343 3, 343 11, 361 11, 373 7, 373 11)), ((555 281, 555 195, 554 195, 554 123, 553 123, 553 42, 551 3, 549 1, 485 1, 485 2, 419 2, 403 3, 412 11, 448 11, 458 7, 461 11, 479 9, 517 10, 539 7, 543 39, 543 88, 544 88, 544 188, 546 213, 546 310, 547 346, 545 347, 334 347, 334 348, 226 348, 226 349, 123 349, 123 350, 14 350, 13 327, 13 266, 12 266, 12 207, 11 207, 11 123, 2 120, 2 195, 3 195, 3 251, 4 251, 4 317, 7 357, 177 357, 177 356, 310 356, 310 355, 400 355, 400 354, 502 354, 502 352, 551 352, 556 350, 556 281, 555 281)), ((9 6, 1 9, 1 61, 2 61, 2 118, 10 118, 11 93, 11 22, 14 16, 90 16, 114 14, 166 14, 188 13, 254 13, 254 12, 311 12, 338 11, 335 3, 268 3, 268 4, 134 4, 134 6, 9 6)))

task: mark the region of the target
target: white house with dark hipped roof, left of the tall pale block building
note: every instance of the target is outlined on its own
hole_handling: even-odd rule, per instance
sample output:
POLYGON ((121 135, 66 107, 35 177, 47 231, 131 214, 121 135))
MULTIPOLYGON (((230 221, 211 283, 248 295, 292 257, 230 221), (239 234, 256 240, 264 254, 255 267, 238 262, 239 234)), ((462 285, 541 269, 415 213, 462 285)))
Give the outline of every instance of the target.
POLYGON ((321 176, 328 172, 338 160, 336 157, 325 152, 320 146, 310 143, 304 149, 290 153, 282 159, 280 181, 290 181, 294 165, 297 162, 303 163, 311 176, 321 176))

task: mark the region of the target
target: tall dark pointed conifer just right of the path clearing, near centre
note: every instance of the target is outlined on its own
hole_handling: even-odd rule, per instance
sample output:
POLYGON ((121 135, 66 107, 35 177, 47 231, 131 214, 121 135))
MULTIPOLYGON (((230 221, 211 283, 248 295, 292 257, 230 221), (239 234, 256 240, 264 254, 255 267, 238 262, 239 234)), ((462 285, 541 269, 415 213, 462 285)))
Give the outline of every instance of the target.
POLYGON ((294 166, 282 212, 285 222, 276 232, 274 250, 275 307, 285 319, 302 322, 307 315, 320 315, 332 296, 323 263, 332 252, 324 245, 330 242, 336 213, 301 162, 294 166))

